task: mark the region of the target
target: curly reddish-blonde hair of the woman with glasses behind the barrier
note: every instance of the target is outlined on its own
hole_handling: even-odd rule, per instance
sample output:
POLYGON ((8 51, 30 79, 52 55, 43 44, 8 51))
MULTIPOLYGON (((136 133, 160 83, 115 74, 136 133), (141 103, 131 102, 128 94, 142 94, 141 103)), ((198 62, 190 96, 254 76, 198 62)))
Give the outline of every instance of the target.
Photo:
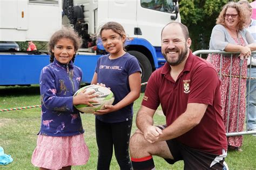
POLYGON ((238 30, 242 30, 245 27, 245 13, 242 10, 242 6, 237 2, 229 2, 226 5, 223 6, 223 9, 221 10, 219 17, 217 18, 216 24, 221 24, 223 26, 226 26, 225 23, 225 15, 228 8, 234 8, 238 12, 238 30))

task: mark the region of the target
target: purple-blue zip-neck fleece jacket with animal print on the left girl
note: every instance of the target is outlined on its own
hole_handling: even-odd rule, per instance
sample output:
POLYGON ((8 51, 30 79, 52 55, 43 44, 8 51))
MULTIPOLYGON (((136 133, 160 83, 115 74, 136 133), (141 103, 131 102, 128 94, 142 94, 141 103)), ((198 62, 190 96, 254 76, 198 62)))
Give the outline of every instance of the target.
POLYGON ((79 111, 73 107, 73 95, 80 87, 82 70, 63 65, 56 59, 40 75, 42 101, 41 131, 48 136, 74 136, 84 133, 79 111))

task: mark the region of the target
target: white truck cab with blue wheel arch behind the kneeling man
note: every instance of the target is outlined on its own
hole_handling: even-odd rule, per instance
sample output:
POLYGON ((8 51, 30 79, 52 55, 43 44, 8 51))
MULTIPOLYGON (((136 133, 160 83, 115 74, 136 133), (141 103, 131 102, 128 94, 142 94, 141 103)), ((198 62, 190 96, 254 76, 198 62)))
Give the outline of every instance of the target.
MULTIPOLYGON (((69 0, 65 0, 63 5, 66 19, 76 18, 73 20, 73 25, 77 25, 77 22, 82 24, 78 26, 84 28, 81 32, 97 36, 98 30, 106 22, 114 21, 123 25, 126 36, 129 38, 126 50, 138 59, 142 68, 143 82, 149 79, 153 70, 165 63, 161 54, 161 30, 169 22, 180 22, 177 1, 75 0, 73 5, 80 6, 80 9, 73 8, 75 10, 73 18, 69 16, 68 2, 69 0)), ((70 22, 66 20, 65 23, 70 22)), ((98 49, 104 50, 99 39, 98 49)))

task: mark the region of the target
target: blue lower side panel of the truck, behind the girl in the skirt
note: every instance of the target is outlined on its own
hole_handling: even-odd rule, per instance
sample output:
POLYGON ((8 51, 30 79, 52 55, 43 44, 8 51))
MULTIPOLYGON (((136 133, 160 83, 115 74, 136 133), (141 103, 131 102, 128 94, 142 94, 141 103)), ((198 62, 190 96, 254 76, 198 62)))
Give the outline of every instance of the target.
MULTIPOLYGON (((90 83, 100 55, 77 55, 75 65, 83 70, 83 83, 90 83)), ((50 56, 4 55, 0 54, 0 85, 39 84, 39 75, 44 66, 49 65, 50 56)))

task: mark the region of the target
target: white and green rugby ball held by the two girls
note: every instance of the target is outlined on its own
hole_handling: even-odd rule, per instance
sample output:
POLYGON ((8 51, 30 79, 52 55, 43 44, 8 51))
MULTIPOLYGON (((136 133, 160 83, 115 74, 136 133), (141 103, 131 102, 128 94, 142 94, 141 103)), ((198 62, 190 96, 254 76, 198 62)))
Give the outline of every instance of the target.
POLYGON ((93 100, 98 101, 98 103, 91 103, 93 107, 90 107, 89 105, 86 105, 86 104, 75 105, 75 108, 77 108, 77 110, 81 112, 84 112, 86 114, 92 114, 97 110, 104 110, 105 105, 111 105, 114 102, 114 94, 112 93, 112 91, 109 88, 99 86, 99 85, 89 85, 89 86, 80 88, 79 90, 77 90, 74 96, 81 93, 84 89, 86 89, 85 93, 95 90, 94 94, 97 94, 99 96, 96 98, 93 98, 93 100))

